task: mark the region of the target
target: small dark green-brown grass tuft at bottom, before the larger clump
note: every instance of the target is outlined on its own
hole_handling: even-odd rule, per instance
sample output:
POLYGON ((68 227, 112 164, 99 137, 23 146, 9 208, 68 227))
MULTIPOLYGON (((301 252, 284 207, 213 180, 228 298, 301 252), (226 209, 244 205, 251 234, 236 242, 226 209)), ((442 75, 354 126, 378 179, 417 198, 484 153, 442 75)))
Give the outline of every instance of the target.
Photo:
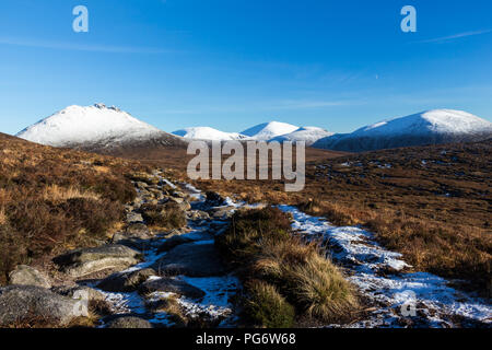
POLYGON ((245 313, 256 326, 290 328, 294 325, 294 306, 285 301, 277 288, 265 281, 253 280, 247 287, 245 313))

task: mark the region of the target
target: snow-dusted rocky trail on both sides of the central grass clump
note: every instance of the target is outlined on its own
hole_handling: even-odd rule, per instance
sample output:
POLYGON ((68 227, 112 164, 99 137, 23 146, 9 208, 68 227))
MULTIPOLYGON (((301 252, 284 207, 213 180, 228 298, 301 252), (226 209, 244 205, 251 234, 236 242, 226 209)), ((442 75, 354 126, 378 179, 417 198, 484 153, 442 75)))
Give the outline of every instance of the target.
MULTIPOLYGON (((238 208, 259 206, 235 203, 211 192, 204 196, 188 184, 171 183, 157 171, 134 186, 137 198, 126 208, 126 226, 109 243, 54 259, 66 283, 54 285, 43 272, 26 266, 11 273, 11 285, 0 288, 0 326, 30 315, 69 326, 83 312, 84 301, 104 305, 104 315, 93 324, 102 328, 241 324, 234 296, 242 285, 221 260, 214 237, 238 208), (162 215, 176 228, 156 230, 162 215)), ((329 256, 372 305, 361 319, 327 327, 491 325, 490 303, 458 292, 431 273, 409 272, 401 255, 380 247, 370 232, 332 226, 293 207, 279 208, 292 214, 296 234, 324 242, 329 256)))

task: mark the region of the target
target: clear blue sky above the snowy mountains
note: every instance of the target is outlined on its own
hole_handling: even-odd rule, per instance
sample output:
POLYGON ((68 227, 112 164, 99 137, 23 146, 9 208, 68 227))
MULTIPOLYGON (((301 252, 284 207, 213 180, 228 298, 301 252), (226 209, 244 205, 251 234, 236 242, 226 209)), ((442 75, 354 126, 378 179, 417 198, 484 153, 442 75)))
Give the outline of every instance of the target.
POLYGON ((491 13, 490 0, 0 0, 0 131, 94 103, 165 131, 350 132, 432 108, 492 120, 491 13))

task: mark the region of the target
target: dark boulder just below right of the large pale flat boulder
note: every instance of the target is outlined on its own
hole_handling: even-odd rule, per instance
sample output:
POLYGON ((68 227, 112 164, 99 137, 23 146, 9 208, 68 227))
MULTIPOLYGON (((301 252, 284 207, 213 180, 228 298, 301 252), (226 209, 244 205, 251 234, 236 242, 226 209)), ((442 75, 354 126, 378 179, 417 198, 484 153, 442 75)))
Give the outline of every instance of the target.
POLYGON ((155 275, 157 275, 157 272, 151 268, 130 272, 116 272, 102 280, 97 284, 97 288, 106 292, 133 292, 141 283, 145 282, 149 277, 155 275))

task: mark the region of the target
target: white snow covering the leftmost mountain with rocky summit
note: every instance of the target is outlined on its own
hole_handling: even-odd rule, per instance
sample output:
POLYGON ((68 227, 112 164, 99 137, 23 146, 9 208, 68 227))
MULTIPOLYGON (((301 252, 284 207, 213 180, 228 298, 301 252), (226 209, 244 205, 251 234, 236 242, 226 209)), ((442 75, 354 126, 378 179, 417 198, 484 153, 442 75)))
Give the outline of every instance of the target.
POLYGON ((39 120, 16 135, 19 138, 54 147, 71 147, 107 140, 125 142, 168 136, 133 118, 128 113, 104 104, 69 106, 39 120))

